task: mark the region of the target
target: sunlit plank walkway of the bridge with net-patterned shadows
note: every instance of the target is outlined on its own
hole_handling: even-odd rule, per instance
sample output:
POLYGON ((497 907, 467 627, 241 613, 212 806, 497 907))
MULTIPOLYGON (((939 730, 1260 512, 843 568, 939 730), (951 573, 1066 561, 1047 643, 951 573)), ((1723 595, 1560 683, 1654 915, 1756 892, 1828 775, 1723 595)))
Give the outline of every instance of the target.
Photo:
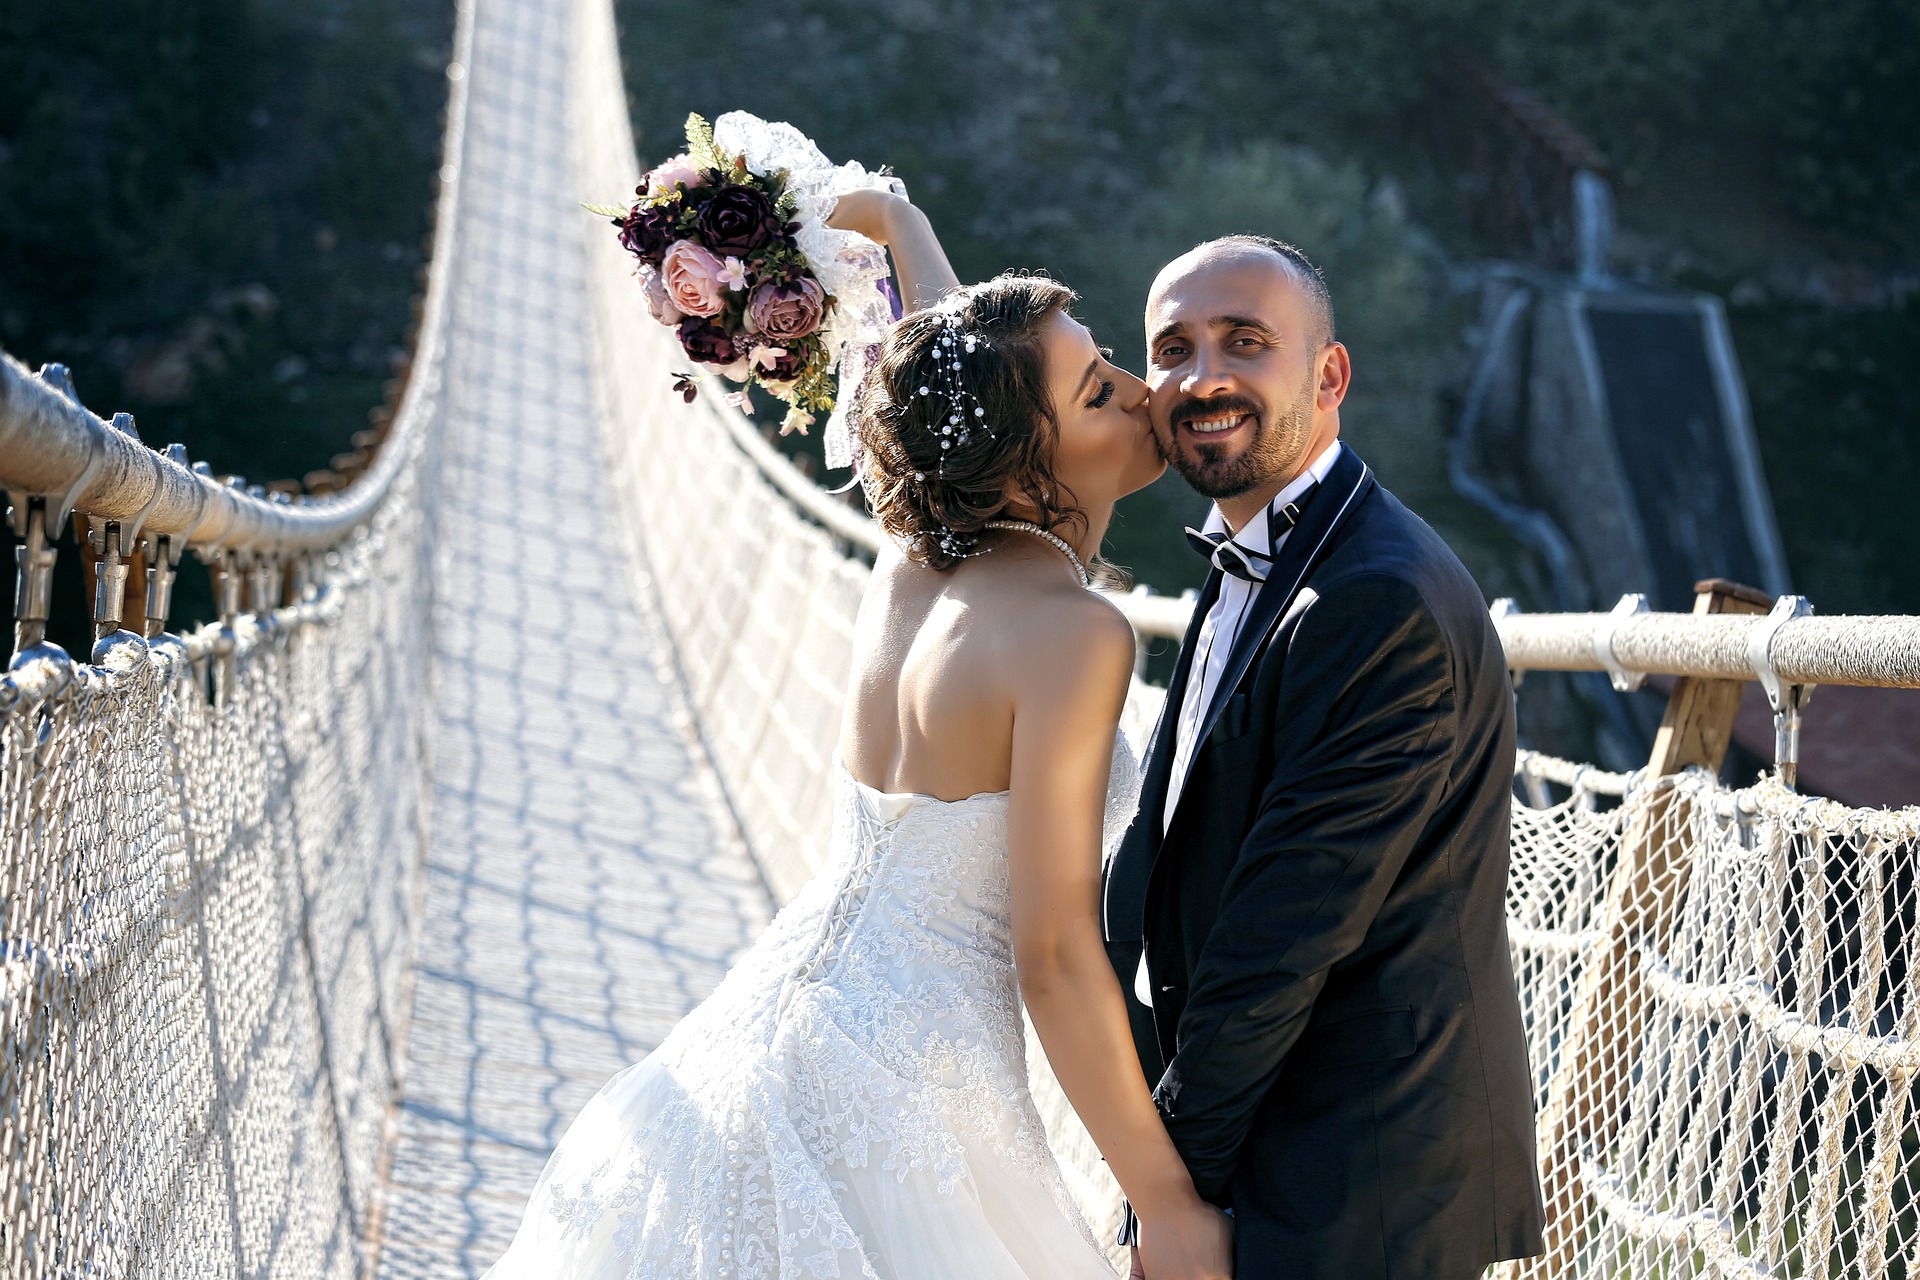
POLYGON ((580 1105, 772 910, 609 528, 566 0, 478 6, 434 533, 432 841, 380 1253, 396 1280, 484 1272, 580 1105))

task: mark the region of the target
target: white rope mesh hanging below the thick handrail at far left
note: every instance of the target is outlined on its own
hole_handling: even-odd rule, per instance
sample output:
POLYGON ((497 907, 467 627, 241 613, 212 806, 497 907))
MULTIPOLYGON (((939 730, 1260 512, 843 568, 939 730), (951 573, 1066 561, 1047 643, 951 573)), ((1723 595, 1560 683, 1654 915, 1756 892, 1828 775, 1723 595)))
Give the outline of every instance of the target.
POLYGON ((209 628, 6 689, 4 1274, 357 1274, 424 818, 422 510, 409 470, 313 599, 240 620, 230 681, 209 628))

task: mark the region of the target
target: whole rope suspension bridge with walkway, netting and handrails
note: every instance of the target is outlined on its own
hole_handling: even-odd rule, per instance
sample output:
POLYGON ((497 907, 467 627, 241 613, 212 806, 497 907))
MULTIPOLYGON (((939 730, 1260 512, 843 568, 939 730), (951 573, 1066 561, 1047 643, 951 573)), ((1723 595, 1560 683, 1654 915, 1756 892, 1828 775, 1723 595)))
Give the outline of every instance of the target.
MULTIPOLYGON (((824 856, 877 535, 680 403, 578 209, 639 175, 609 0, 461 0, 447 79, 413 363, 338 491, 221 484, 0 361, 8 1276, 478 1276, 574 1111, 824 856), (98 639, 65 656, 77 514, 98 639), (177 637, 182 553, 221 620, 177 637)), ((1511 1270, 1920 1276, 1920 810, 1791 789, 1807 691, 1920 687, 1920 620, 1703 583, 1693 614, 1500 628, 1515 672, 1678 677, 1644 770, 1521 760, 1551 1253, 1511 1270), (1780 768, 1726 789, 1745 681, 1780 768)), ((1104 1230, 1114 1186, 1033 1065, 1104 1230)))

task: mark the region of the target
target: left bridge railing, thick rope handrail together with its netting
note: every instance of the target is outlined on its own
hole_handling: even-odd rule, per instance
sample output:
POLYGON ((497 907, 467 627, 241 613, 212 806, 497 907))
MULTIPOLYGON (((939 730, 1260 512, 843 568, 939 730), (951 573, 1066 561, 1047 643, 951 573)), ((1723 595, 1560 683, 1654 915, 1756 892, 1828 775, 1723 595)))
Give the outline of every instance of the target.
MULTIPOLYGON (((463 107, 455 84, 453 165, 463 107)), ((324 497, 215 482, 84 413, 58 370, 0 370, 25 543, 0 676, 4 1276, 367 1270, 426 825, 455 211, 444 182, 378 457, 324 497), (67 509, 94 533, 92 662, 44 643, 67 509), (182 639, 167 587, 188 549, 221 620, 182 639), (121 618, 140 562, 144 624, 121 618)))

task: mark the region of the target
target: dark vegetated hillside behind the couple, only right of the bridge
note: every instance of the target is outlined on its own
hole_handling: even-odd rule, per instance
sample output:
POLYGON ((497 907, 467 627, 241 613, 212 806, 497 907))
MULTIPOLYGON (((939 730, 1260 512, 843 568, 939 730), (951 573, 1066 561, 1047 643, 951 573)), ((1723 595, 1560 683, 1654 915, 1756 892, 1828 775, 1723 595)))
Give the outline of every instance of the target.
MULTIPOLYGON (((1517 549, 1446 484, 1473 263, 1524 255, 1475 217, 1488 71, 1611 159, 1617 267, 1730 297, 1799 589, 1920 610, 1920 10, 1905 0, 626 0, 643 155, 687 111, 791 119, 891 163, 960 274, 1041 267, 1140 368, 1160 263, 1227 230, 1298 242, 1354 349, 1350 439, 1461 549, 1526 593, 1517 549)), ((597 196, 609 198, 609 196, 597 196)), ((1114 553, 1192 585, 1167 480, 1114 553)))

